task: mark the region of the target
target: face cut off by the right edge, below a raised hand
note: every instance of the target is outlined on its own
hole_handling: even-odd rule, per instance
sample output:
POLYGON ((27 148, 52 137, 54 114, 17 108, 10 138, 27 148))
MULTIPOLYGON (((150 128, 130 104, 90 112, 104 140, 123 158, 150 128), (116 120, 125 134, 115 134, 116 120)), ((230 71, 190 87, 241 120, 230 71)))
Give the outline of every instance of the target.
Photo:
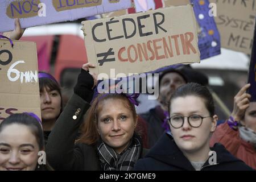
POLYGON ((249 127, 256 132, 256 102, 250 102, 250 106, 245 111, 243 122, 245 127, 249 127))

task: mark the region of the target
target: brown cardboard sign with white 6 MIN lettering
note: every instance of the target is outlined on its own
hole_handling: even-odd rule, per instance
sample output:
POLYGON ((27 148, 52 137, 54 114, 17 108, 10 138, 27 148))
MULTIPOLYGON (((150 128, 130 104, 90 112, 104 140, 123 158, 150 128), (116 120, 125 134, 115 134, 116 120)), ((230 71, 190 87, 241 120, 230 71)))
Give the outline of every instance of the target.
POLYGON ((32 112, 41 118, 38 59, 34 42, 0 39, 0 122, 10 114, 32 112))

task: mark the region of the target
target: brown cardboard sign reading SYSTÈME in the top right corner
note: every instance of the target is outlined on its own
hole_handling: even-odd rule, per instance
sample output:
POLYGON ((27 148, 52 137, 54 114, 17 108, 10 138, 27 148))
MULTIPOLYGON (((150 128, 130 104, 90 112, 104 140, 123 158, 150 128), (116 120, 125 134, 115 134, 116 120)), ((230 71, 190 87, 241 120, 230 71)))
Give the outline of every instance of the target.
POLYGON ((256 15, 255 0, 210 0, 217 5, 215 22, 221 35, 221 46, 251 53, 256 15))

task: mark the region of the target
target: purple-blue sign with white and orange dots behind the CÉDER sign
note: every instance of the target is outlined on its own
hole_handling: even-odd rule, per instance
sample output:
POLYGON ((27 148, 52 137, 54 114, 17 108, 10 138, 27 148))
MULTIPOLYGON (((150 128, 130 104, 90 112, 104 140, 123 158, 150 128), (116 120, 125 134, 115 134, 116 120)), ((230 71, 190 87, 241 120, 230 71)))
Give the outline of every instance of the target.
POLYGON ((221 53, 220 34, 218 32, 214 17, 209 15, 209 1, 191 0, 196 20, 200 26, 199 50, 200 59, 216 56, 221 53))

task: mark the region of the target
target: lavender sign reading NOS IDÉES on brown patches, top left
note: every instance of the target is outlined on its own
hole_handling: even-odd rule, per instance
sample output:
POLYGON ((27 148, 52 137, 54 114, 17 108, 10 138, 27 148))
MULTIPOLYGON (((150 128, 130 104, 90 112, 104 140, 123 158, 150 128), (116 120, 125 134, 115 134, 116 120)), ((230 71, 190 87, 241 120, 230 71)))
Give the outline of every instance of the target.
POLYGON ((14 19, 22 28, 72 21, 131 7, 130 0, 1 0, 0 32, 14 30, 14 19))

